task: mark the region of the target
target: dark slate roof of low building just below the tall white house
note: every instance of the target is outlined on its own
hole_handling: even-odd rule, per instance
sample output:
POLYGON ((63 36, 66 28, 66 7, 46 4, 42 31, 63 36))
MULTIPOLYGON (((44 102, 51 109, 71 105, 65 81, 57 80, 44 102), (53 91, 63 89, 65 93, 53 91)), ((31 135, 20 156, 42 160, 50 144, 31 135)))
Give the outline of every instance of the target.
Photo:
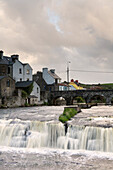
POLYGON ((29 87, 32 83, 33 81, 17 81, 15 85, 17 88, 26 88, 29 87))

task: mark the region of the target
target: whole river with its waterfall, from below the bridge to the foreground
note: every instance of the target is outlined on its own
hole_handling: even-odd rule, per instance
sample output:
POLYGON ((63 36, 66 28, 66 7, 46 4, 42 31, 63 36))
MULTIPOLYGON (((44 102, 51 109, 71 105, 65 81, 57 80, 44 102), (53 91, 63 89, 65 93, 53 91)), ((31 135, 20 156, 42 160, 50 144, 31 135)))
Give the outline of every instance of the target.
POLYGON ((63 109, 0 109, 0 170, 111 170, 113 106, 82 109, 68 129, 63 109))

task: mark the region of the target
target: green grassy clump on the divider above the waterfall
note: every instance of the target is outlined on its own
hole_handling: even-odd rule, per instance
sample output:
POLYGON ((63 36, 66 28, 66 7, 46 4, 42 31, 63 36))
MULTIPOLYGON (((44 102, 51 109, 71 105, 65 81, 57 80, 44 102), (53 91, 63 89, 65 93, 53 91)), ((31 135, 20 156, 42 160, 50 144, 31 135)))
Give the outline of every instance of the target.
POLYGON ((65 108, 63 114, 59 116, 59 121, 65 123, 72 117, 74 117, 76 114, 77 110, 75 110, 74 108, 65 108))

